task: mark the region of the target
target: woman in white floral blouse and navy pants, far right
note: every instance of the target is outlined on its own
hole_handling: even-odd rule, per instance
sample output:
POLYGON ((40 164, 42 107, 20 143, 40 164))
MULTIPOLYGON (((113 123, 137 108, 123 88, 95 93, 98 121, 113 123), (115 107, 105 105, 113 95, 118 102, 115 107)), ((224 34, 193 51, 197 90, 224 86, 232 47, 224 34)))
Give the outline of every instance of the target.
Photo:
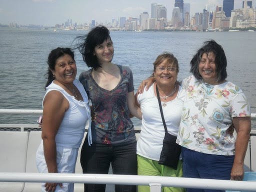
POLYGON ((182 81, 185 100, 177 136, 183 176, 242 180, 250 132, 247 99, 238 86, 225 79, 225 53, 214 40, 205 41, 190 64, 192 75, 182 81), (237 136, 230 131, 232 124, 237 136))

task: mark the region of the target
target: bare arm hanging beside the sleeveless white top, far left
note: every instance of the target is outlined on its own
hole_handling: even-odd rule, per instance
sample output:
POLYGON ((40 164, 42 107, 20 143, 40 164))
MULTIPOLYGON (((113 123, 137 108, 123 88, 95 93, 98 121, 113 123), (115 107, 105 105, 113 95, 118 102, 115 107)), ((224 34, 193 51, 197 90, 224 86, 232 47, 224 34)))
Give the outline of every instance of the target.
MULTIPOLYGON (((55 136, 68 107, 68 101, 59 91, 55 90, 48 92, 43 101, 42 140, 48 172, 58 172, 55 136)), ((62 186, 61 183, 46 182, 46 191, 55 191, 57 184, 62 186)))

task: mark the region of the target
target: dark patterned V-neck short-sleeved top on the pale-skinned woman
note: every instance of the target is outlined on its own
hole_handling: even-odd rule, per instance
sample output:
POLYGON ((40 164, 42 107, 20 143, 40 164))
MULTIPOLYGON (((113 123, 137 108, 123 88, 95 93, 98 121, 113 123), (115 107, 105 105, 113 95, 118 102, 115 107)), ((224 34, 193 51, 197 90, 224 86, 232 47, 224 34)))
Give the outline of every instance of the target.
POLYGON ((112 90, 100 87, 92 78, 91 70, 83 71, 79 80, 92 103, 92 142, 101 144, 128 144, 136 142, 134 126, 129 117, 127 93, 134 90, 132 71, 117 65, 121 79, 112 90))

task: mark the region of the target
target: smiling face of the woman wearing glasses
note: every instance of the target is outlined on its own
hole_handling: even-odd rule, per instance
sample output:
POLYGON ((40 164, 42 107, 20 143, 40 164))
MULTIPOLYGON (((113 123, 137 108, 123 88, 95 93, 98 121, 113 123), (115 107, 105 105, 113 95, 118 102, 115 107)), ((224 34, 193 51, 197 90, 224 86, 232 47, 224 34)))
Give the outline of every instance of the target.
POLYGON ((164 59, 154 71, 154 78, 158 85, 173 85, 177 80, 177 68, 164 59))

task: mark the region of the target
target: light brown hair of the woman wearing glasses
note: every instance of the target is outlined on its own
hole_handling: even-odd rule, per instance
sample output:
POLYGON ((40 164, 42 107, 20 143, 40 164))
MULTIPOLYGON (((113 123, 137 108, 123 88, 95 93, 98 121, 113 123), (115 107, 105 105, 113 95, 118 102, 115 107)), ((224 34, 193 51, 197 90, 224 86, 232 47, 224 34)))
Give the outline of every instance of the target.
POLYGON ((156 69, 156 67, 161 64, 164 60, 167 60, 168 63, 172 64, 173 66, 176 67, 176 71, 178 72, 178 60, 177 58, 170 52, 163 52, 161 54, 159 54, 155 61, 153 62, 153 65, 154 65, 154 71, 156 69))

